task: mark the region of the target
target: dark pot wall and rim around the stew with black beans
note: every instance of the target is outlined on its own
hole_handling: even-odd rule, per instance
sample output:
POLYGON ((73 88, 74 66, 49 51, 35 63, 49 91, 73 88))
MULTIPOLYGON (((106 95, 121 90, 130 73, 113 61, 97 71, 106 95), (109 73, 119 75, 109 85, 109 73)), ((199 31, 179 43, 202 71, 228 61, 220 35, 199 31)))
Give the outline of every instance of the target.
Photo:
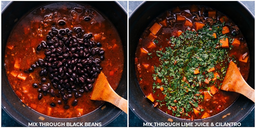
MULTIPOLYGON (((28 126, 28 123, 36 122, 49 122, 49 123, 101 123, 101 126, 105 126, 114 120, 122 111, 110 103, 105 103, 106 108, 103 110, 97 109, 90 114, 69 119, 52 118, 49 116, 44 116, 34 110, 23 107, 23 103, 12 91, 12 88, 7 80, 5 69, 4 69, 4 50, 7 38, 15 25, 15 19, 20 19, 24 14, 39 5, 45 4, 47 2, 11 2, 8 7, 2 11, 2 108, 17 122, 23 126, 28 126), (39 120, 38 117, 43 116, 44 121, 39 120)), ((116 89, 118 95, 127 99, 127 13, 117 2, 80 2, 84 4, 90 4, 100 12, 102 12, 108 19, 114 24, 119 35, 121 37, 123 48, 124 48, 124 71, 122 75, 121 82, 116 89)), ((3 117, 2 117, 3 118, 3 117)))

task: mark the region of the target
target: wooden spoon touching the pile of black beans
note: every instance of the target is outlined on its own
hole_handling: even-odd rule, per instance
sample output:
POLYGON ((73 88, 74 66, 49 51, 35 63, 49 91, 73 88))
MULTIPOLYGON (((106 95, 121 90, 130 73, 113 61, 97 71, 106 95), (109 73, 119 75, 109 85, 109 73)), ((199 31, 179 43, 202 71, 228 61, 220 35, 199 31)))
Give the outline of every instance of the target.
POLYGON ((127 114, 127 100, 116 94, 109 85, 103 72, 95 80, 91 100, 103 100, 112 103, 127 114))

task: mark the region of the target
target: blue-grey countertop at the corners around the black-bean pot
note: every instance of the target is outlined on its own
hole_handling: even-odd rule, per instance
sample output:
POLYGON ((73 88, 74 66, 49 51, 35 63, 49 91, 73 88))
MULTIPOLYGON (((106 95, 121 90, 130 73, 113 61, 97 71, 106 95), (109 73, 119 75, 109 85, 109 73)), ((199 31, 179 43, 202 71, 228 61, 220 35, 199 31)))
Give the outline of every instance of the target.
MULTIPOLYGON (((10 1, 1 1, 1 11, 4 9, 4 7, 10 3, 10 1)), ((127 1, 118 1, 119 4, 121 4, 124 8, 124 10, 127 12, 127 1)), ((9 116, 3 108, 2 110, 2 127, 22 127, 21 124, 19 124, 17 121, 15 121, 11 116, 9 116)), ((122 112, 119 116, 116 117, 115 120, 113 120, 111 123, 106 125, 106 127, 127 127, 127 114, 122 112)))

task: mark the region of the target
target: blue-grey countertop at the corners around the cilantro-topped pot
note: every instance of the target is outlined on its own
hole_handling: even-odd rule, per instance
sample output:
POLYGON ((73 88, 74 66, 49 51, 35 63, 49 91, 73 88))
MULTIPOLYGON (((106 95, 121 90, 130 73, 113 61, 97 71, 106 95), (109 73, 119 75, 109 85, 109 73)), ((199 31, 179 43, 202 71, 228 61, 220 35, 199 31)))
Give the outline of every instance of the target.
MULTIPOLYGON (((129 1, 129 17, 132 12, 142 3, 143 1, 129 1)), ((245 7, 248 8, 255 16, 255 2, 254 1, 241 1, 245 7)), ((129 108, 129 127, 143 127, 143 121, 133 113, 129 108)), ((255 108, 240 122, 241 127, 255 127, 255 108)))

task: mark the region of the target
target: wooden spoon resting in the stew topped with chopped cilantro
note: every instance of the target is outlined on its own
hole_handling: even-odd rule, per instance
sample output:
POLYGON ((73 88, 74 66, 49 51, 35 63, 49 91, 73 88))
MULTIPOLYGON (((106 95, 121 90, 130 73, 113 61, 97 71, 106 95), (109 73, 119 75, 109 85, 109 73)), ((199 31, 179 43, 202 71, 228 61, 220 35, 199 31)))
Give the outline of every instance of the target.
POLYGON ((243 76, 233 61, 230 61, 229 63, 226 76, 220 89, 225 91, 238 92, 255 102, 255 90, 245 82, 243 76))

